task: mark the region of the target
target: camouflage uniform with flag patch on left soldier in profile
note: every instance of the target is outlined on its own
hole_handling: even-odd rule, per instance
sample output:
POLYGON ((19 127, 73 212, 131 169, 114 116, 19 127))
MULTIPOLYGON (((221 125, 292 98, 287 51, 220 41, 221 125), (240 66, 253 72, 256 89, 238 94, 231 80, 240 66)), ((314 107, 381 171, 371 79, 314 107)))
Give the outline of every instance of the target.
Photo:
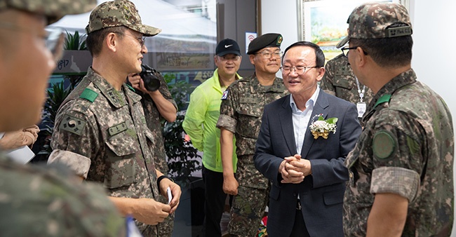
MULTIPOLYGON (((69 164, 86 180, 102 183, 109 196, 159 196, 154 136, 140 100, 125 84, 117 91, 89 68, 55 118, 49 162, 69 164)), ((137 225, 144 236, 156 235, 156 226, 137 225)))

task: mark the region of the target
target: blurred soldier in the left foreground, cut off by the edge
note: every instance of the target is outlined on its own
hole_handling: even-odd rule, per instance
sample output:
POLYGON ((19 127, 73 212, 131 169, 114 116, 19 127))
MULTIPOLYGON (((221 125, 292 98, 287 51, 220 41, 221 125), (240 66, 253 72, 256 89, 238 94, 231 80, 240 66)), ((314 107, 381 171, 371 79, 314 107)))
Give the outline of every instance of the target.
MULTIPOLYGON (((39 120, 43 91, 63 43, 61 37, 45 47, 45 40, 51 40, 46 25, 67 14, 88 12, 95 4, 0 0, 0 131, 22 129, 39 120)), ((102 187, 81 184, 63 171, 19 165, 0 151, 0 235, 126 236, 125 222, 102 187)))

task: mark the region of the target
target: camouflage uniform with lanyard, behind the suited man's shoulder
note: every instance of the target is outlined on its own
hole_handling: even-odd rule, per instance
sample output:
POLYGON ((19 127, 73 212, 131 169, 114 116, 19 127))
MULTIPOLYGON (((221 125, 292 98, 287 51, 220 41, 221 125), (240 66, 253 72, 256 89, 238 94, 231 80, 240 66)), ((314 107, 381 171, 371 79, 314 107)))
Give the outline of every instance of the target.
MULTIPOLYGON (((351 70, 348 57, 345 57, 344 54, 337 55, 337 57, 326 63, 325 69, 326 72, 320 82, 321 89, 330 95, 335 95, 348 102, 354 104, 360 102, 356 77, 353 70, 351 70)), ((363 90, 363 88, 365 91, 363 102, 369 104, 370 99, 373 97, 372 90, 359 83, 359 89, 363 90)), ((364 126, 361 118, 359 122, 361 126, 364 126)))

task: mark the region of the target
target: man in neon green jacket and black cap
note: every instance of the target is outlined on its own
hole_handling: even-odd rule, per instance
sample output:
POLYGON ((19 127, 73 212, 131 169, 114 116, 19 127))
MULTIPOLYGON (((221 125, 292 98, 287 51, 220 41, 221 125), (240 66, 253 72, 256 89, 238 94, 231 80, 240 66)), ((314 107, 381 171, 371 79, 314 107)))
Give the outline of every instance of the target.
MULTIPOLYGON (((221 236, 222 218, 227 194, 223 187, 223 167, 220 156, 220 130, 215 127, 220 116, 220 104, 227 87, 241 76, 236 72, 241 65, 241 50, 232 39, 224 39, 215 49, 214 75, 195 88, 182 127, 199 151, 203 151, 204 224, 205 236, 221 236)), ((233 139, 234 140, 234 139, 233 139)), ((234 141, 233 141, 234 144, 234 141)), ((233 172, 236 172, 236 147, 233 147, 233 172)))

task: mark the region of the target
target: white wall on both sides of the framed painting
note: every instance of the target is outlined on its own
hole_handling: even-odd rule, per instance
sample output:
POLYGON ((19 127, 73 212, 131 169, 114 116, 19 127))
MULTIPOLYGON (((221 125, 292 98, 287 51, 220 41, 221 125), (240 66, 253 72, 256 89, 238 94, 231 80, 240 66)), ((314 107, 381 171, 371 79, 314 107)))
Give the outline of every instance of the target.
MULTIPOLYGON (((297 1, 262 0, 262 32, 283 35, 283 50, 298 41, 297 1)), ((413 25, 412 67, 418 80, 440 94, 456 123, 456 1, 409 0, 413 25)), ((456 172, 455 172, 456 175, 456 172)), ((456 225, 453 229, 456 229, 456 225)), ((452 231, 456 237, 456 231, 452 231)))

